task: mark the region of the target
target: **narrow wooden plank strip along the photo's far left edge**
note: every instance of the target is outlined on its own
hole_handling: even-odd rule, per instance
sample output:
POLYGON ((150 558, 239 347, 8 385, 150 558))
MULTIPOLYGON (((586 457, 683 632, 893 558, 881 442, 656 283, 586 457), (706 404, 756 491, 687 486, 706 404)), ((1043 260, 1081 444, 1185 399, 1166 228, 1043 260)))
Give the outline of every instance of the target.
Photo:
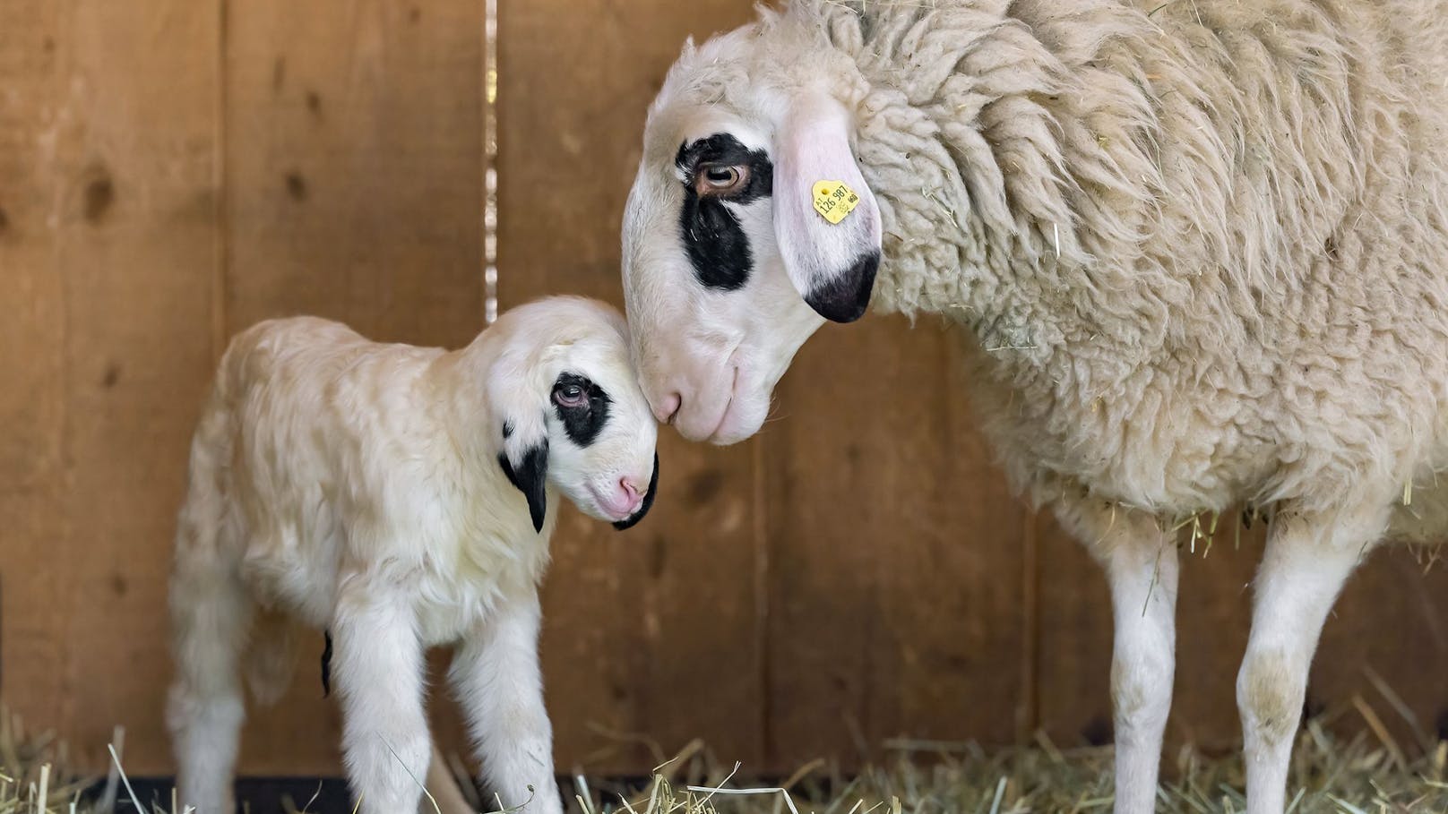
POLYGON ((64 503, 65 287, 52 255, 59 168, 45 140, 64 88, 65 14, 0 6, 0 691, 41 726, 62 713, 64 575, 46 556, 67 534, 64 503))

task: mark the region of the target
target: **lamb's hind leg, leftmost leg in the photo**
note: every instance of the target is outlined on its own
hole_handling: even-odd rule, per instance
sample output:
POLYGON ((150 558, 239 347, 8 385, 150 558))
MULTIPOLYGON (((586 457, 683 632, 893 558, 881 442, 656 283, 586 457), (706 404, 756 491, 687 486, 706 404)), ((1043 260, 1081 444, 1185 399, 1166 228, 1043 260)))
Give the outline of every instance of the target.
MULTIPOLYGON (((207 555, 210 552, 206 552, 207 555)), ((230 814, 240 739, 240 653, 252 607, 240 579, 201 552, 181 552, 171 584, 175 684, 167 723, 177 795, 200 814, 230 814)))

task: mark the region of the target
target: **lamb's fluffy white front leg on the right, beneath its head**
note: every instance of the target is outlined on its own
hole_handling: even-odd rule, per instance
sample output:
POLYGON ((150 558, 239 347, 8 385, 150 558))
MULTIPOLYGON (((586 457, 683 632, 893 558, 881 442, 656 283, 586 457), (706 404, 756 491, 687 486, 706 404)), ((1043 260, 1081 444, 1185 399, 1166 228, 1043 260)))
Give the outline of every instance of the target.
POLYGON ((458 649, 450 681, 484 779, 502 805, 527 802, 527 814, 562 814, 539 672, 539 620, 536 594, 500 603, 458 649))

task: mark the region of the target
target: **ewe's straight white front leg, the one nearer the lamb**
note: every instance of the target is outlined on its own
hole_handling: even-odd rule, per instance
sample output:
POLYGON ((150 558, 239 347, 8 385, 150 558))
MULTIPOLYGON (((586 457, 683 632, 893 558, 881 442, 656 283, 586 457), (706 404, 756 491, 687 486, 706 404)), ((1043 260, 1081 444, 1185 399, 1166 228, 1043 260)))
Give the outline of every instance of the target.
POLYGON ((1114 645, 1111 697, 1116 730, 1116 814, 1150 814, 1176 668, 1177 549, 1154 517, 1102 504, 1061 520, 1106 569, 1114 645))

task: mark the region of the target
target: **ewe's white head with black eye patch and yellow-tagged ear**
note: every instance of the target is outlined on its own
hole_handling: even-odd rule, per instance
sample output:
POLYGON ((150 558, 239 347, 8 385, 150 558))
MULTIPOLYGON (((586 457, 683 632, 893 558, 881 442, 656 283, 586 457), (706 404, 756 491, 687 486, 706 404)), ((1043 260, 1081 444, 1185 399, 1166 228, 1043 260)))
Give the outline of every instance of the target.
POLYGON ((757 432, 809 335, 864 313, 880 262, 853 85, 830 81, 854 68, 783 25, 685 46, 624 210, 634 361, 654 414, 694 440, 757 432))

